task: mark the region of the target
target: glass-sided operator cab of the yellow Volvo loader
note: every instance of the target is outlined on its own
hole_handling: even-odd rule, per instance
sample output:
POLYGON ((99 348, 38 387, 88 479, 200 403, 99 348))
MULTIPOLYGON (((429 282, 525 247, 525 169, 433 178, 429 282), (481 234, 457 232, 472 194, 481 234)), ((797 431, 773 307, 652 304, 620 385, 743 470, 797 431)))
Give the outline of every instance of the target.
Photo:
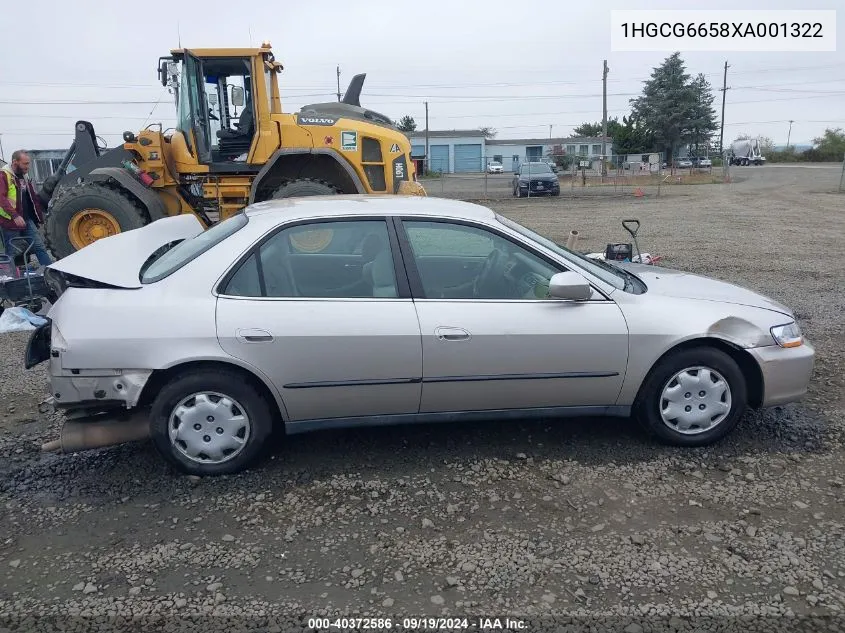
POLYGON ((258 171, 250 158, 262 120, 269 123, 277 89, 272 70, 256 51, 230 52, 204 56, 185 50, 174 58, 178 71, 170 85, 176 94, 176 129, 194 159, 211 173, 258 171))

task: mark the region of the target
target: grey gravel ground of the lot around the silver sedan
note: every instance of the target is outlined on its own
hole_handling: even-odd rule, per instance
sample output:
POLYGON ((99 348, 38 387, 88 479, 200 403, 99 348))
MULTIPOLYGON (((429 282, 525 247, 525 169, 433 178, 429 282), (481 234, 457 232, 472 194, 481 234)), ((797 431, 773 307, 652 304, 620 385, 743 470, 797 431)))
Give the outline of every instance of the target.
POLYGON ((619 220, 636 216, 640 246, 666 265, 796 310, 818 353, 810 395, 708 449, 656 445, 626 420, 359 429, 294 436, 248 473, 192 480, 148 443, 40 453, 59 424, 39 412, 44 370, 22 369, 26 334, 0 336, 0 626, 845 628, 837 169, 493 204, 559 240, 578 229, 584 250, 622 241, 619 220), (402 619, 422 615, 466 627, 402 619))

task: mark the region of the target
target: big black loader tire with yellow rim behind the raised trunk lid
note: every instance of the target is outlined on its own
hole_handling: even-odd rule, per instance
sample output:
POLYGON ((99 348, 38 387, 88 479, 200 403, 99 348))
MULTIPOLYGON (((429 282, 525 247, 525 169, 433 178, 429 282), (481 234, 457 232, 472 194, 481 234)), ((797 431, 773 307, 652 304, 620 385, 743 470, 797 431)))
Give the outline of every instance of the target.
POLYGON ((118 188, 81 183, 52 201, 45 226, 46 246, 56 259, 96 240, 149 223, 144 208, 118 188))

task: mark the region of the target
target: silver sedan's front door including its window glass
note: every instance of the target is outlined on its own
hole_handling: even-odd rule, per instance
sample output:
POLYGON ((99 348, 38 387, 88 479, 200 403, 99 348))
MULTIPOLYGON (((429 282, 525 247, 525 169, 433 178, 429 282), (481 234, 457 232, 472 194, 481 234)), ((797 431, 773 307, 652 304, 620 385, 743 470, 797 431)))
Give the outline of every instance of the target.
POLYGON ((628 354, 615 303, 548 298, 563 266, 486 228, 402 224, 422 287, 421 412, 615 402, 628 354))

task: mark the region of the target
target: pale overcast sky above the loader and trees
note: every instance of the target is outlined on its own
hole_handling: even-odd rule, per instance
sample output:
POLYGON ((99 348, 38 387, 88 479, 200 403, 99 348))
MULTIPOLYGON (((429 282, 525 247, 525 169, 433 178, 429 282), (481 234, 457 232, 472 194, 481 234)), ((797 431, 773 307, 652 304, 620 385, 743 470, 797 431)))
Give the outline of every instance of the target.
MULTIPOLYGON (((109 145, 120 142, 123 130, 173 125, 172 96, 157 82, 156 65, 180 35, 184 47, 270 40, 285 65, 286 111, 336 100, 340 64, 342 90, 353 74, 366 72, 362 104, 394 120, 410 114, 419 129, 427 100, 431 129, 491 126, 497 138, 546 138, 552 125, 554 136, 566 136, 584 121, 601 120, 603 59, 610 68, 608 110, 621 116, 669 55, 611 52, 614 8, 759 9, 761 17, 766 9, 839 8, 837 52, 682 54, 688 72, 705 73, 714 91, 724 62, 730 64, 726 141, 749 133, 785 143, 790 119, 792 143, 809 143, 826 127, 845 128, 842 0, 13 4, 15 19, 0 19, 0 141, 7 159, 19 147, 66 148, 77 119, 93 122, 109 145)), ((721 93, 715 94, 718 114, 721 93)))

